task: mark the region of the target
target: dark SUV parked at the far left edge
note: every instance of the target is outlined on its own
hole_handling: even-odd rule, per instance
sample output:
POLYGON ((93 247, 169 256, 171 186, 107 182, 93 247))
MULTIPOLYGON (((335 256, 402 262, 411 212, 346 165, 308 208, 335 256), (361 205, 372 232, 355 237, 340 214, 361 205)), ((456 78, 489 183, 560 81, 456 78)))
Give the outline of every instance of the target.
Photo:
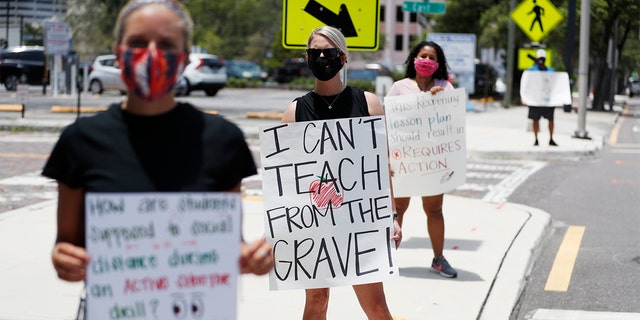
POLYGON ((15 91, 19 83, 47 84, 49 77, 45 75, 45 66, 43 47, 9 47, 0 51, 0 82, 8 91, 15 91))

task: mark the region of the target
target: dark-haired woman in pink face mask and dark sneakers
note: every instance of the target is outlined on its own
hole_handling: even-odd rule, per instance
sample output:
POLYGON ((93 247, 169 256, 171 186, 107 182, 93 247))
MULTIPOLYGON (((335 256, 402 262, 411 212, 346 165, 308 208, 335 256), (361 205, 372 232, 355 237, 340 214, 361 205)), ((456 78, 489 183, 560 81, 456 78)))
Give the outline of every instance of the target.
MULTIPOLYGON (((452 90, 453 85, 448 81, 447 59, 442 48, 435 42, 422 41, 417 44, 405 62, 407 69, 404 79, 396 81, 387 96, 416 94, 430 92, 432 95, 442 90, 452 90)), ((449 265, 442 255, 444 249, 444 216, 442 214, 443 194, 422 197, 422 208, 427 215, 427 230, 431 239, 434 258, 431 270, 443 277, 455 278, 458 272, 449 265)), ((409 207, 411 198, 395 198, 398 210, 398 222, 402 226, 404 213, 409 207)))

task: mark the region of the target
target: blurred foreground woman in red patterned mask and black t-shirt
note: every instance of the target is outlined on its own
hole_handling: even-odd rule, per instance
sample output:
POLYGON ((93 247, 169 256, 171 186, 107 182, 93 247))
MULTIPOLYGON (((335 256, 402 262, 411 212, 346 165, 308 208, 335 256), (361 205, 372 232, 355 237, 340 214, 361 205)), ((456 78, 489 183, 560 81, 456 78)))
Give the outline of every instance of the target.
MULTIPOLYGON (((68 126, 43 170, 58 181, 52 262, 60 279, 82 281, 87 274, 85 193, 240 192, 242 179, 256 173, 238 127, 174 99, 192 25, 176 0, 132 0, 120 11, 114 51, 127 100, 68 126)), ((241 248, 242 273, 272 269, 264 239, 241 248)))

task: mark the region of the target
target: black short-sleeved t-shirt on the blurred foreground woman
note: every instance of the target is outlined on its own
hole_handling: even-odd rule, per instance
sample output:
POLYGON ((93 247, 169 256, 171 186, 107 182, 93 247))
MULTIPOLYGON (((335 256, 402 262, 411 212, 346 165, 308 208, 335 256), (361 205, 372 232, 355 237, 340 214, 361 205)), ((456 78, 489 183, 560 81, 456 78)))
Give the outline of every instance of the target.
POLYGON ((178 103, 158 116, 114 104, 62 132, 43 175, 87 192, 226 191, 256 173, 242 131, 178 103))

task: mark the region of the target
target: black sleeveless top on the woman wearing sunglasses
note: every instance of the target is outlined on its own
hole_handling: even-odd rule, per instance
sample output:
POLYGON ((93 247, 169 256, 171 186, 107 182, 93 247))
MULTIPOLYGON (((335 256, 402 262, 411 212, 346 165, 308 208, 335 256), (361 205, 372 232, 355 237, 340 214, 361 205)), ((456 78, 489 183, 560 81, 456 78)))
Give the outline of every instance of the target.
POLYGON ((309 92, 295 101, 296 122, 369 116, 364 91, 356 87, 347 86, 339 95, 329 97, 309 92), (332 105, 331 109, 329 104, 332 105))

